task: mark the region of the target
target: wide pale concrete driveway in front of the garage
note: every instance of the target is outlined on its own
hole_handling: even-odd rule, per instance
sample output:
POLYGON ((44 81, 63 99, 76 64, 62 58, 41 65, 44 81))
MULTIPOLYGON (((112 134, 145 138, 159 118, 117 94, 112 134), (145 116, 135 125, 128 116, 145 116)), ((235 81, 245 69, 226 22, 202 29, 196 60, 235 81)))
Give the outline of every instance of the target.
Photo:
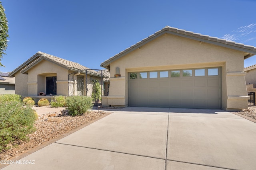
POLYGON ((223 110, 126 107, 4 170, 255 170, 256 123, 223 110))

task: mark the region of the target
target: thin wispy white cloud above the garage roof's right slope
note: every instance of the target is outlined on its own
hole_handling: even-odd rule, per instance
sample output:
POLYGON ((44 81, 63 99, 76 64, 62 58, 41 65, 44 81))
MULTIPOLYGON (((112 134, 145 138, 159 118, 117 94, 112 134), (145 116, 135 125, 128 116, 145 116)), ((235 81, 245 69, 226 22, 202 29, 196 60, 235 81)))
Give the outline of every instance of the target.
POLYGON ((239 43, 245 43, 256 39, 256 23, 241 26, 231 33, 225 34, 222 39, 228 41, 236 41, 239 43))

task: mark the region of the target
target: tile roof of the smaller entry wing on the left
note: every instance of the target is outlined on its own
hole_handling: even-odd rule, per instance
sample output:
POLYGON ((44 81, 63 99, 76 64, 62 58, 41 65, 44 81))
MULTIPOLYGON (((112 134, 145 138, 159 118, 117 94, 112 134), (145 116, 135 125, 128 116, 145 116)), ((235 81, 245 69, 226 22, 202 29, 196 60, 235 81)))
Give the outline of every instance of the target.
MULTIPOLYGON (((60 66, 63 66, 69 70, 73 70, 73 71, 79 71, 82 73, 87 73, 88 74, 92 74, 95 76, 101 76, 101 72, 99 72, 98 70, 93 70, 90 69, 86 66, 83 66, 79 63, 75 63, 72 61, 68 61, 53 55, 49 55, 46 53, 43 53, 41 51, 38 51, 38 53, 36 53, 35 55, 33 55, 32 57, 30 57, 30 59, 28 59, 26 62, 24 62, 23 64, 21 64, 18 68, 16 68, 15 70, 13 70, 10 75, 14 75, 16 72, 20 71, 22 74, 26 74, 26 72, 35 64, 39 63, 42 60, 47 60, 50 62, 53 62, 55 64, 58 64, 60 66)), ((106 77, 107 78, 107 77, 106 77)))

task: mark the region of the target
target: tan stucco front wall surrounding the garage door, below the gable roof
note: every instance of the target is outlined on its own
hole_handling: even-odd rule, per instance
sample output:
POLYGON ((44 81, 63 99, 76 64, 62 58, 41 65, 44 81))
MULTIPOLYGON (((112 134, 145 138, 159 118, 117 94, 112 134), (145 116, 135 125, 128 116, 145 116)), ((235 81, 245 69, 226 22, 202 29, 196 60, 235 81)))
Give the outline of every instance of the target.
POLYGON ((243 52, 169 34, 110 64, 108 105, 128 106, 128 72, 217 66, 222 67, 222 109, 247 108, 246 98, 240 97, 247 96, 243 52), (113 78, 116 67, 121 78, 113 78))

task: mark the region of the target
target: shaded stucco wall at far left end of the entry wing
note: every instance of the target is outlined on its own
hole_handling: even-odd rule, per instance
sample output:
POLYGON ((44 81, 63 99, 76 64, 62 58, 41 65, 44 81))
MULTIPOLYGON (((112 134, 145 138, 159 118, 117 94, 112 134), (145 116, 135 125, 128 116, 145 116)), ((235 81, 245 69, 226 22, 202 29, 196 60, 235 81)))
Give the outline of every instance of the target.
POLYGON ((28 75, 17 72, 15 74, 15 94, 28 95, 28 75))

